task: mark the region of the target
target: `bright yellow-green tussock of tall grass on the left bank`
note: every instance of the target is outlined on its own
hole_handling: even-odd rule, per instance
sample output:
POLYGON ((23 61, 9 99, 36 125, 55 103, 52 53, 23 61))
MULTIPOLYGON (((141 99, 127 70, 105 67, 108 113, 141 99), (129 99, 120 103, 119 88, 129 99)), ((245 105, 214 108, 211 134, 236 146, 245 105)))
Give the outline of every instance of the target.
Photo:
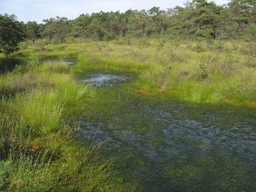
POLYGON ((14 105, 23 121, 33 127, 34 134, 49 134, 60 126, 63 101, 58 100, 58 92, 33 90, 27 95, 17 95, 14 105))

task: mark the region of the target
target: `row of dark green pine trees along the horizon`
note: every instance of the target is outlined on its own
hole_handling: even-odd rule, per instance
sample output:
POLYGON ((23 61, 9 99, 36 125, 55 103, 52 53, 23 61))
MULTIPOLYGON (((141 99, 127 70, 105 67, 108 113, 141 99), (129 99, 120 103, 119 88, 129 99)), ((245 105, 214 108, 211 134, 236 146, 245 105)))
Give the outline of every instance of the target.
POLYGON ((160 10, 129 9, 124 13, 103 12, 81 14, 74 20, 57 16, 43 23, 17 21, 16 16, 0 14, 0 50, 13 54, 16 44, 29 38, 48 38, 49 42, 63 42, 67 37, 91 38, 93 41, 110 41, 117 38, 224 38, 251 41, 256 32, 256 1, 231 0, 218 6, 213 1, 187 1, 183 7, 160 10), (9 43, 11 39, 11 43, 9 43), (8 41, 6 41, 8 40, 8 41), (7 42, 7 44, 6 44, 7 42))

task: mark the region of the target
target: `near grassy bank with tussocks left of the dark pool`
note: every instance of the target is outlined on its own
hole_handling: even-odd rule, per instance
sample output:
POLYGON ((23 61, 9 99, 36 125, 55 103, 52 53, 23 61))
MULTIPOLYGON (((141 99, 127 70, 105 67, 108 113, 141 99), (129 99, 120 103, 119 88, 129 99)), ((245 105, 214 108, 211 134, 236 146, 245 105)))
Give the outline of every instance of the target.
POLYGON ((77 139, 71 117, 95 90, 67 65, 34 64, 0 76, 0 191, 126 191, 102 143, 77 139))

